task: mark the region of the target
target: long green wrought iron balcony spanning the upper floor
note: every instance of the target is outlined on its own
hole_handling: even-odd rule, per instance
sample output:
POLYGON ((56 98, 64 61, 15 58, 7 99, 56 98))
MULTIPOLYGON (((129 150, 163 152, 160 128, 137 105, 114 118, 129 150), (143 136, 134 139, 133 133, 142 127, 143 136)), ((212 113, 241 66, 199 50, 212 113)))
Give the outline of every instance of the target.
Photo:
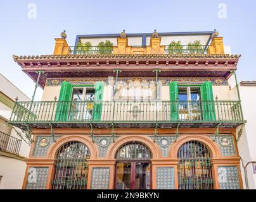
POLYGON ((239 101, 42 101, 16 102, 10 124, 16 126, 171 128, 236 127, 243 122, 239 101))

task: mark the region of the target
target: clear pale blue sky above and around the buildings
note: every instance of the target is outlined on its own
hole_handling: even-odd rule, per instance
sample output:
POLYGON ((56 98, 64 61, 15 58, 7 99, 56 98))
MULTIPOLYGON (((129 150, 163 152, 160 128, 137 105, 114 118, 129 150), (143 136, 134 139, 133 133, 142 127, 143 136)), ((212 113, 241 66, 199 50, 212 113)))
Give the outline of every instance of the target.
MULTIPOLYGON (((0 42, 2 73, 30 98, 34 83, 22 72, 12 55, 52 54, 54 38, 67 31, 68 44, 78 34, 212 31, 224 37, 233 54, 241 54, 238 80, 256 80, 256 1, 235 0, 129 0, 39 1, 1 0, 0 42), (37 6, 30 19, 28 5, 37 6), (227 18, 218 18, 218 5, 227 6, 227 18)), ((0 84, 1 85, 1 84, 0 84)), ((41 88, 35 97, 40 100, 41 88)))

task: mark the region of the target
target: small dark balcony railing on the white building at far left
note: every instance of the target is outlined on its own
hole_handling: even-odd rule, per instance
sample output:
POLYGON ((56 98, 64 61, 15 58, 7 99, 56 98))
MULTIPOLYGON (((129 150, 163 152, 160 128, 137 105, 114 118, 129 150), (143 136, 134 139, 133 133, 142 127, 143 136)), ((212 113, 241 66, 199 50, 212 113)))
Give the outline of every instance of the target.
POLYGON ((22 140, 0 132, 0 150, 18 154, 22 140))

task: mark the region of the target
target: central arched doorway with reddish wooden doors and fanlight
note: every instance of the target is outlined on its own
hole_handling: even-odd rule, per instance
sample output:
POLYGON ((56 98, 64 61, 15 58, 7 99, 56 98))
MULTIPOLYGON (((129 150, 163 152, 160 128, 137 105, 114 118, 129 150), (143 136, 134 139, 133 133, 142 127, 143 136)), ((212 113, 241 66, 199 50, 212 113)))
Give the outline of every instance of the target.
POLYGON ((115 189, 150 189, 151 151, 143 143, 122 145, 116 154, 115 189))

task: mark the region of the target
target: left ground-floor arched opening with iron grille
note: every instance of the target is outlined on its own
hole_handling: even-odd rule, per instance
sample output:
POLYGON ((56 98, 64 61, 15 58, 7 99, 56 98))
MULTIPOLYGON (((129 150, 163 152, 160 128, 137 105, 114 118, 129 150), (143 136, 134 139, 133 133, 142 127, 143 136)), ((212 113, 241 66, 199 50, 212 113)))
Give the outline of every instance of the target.
POLYGON ((86 189, 90 151, 79 141, 60 146, 56 154, 53 189, 86 189))

